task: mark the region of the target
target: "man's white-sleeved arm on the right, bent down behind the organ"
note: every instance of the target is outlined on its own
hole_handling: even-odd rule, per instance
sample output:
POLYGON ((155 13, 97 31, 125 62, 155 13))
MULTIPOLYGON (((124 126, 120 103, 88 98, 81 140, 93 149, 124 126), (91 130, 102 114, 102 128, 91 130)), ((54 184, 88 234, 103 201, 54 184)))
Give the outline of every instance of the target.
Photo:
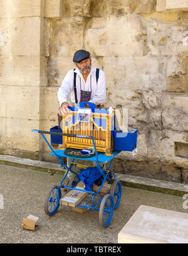
POLYGON ((100 73, 102 74, 98 78, 95 96, 89 102, 98 102, 99 104, 103 104, 106 100, 106 83, 105 73, 102 70, 100 70, 100 73))

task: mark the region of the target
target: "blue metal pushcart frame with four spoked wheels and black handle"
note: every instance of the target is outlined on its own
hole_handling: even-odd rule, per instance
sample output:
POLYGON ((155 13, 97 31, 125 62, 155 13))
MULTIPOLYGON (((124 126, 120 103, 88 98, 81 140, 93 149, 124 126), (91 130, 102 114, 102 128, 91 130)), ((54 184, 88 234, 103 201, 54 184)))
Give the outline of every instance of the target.
MULTIPOLYGON (((85 209, 90 209, 90 210, 99 210, 99 219, 100 219, 100 224, 102 227, 108 227, 112 221, 113 217, 113 210, 117 209, 118 206, 120 205, 121 201, 121 196, 122 196, 122 185, 120 181, 115 181, 115 174, 114 172, 110 172, 110 169, 112 167, 113 159, 115 156, 117 156, 121 151, 113 151, 112 156, 105 156, 105 153, 102 152, 97 152, 96 146, 95 146, 95 141, 92 136, 82 136, 82 135, 76 135, 76 134, 65 134, 65 133, 60 133, 60 132, 48 132, 48 131, 39 131, 39 130, 32 130, 32 132, 38 132, 43 136, 44 141, 46 144, 51 149, 50 155, 56 156, 58 161, 60 162, 61 167, 64 167, 67 169, 65 176, 60 182, 60 186, 54 185, 52 186, 46 195, 46 200, 44 204, 44 211, 46 212, 47 215, 55 215, 56 211, 58 210, 60 206, 60 199, 61 199, 61 188, 63 189, 68 189, 70 190, 75 190, 75 191, 81 191, 86 193, 86 197, 76 205, 76 207, 80 208, 85 208, 85 209), (72 157, 72 156, 67 156, 65 155, 65 151, 63 150, 53 150, 51 147, 50 143, 44 136, 44 134, 53 134, 53 135, 58 135, 58 136, 70 136, 70 137, 79 137, 79 138, 85 138, 85 139, 91 139, 93 142, 93 147, 95 149, 95 156, 87 157, 87 158, 82 158, 82 157, 72 157), (65 163, 61 160, 62 157, 70 157, 73 159, 71 162, 70 167, 66 166, 65 163), (85 189, 78 189, 75 188, 76 184, 80 181, 80 177, 78 173, 75 173, 71 168, 74 164, 75 159, 83 159, 85 161, 94 161, 97 165, 96 167, 98 170, 100 170, 100 173, 103 176, 103 181, 98 189, 98 191, 87 191, 85 189), (108 169, 106 169, 104 166, 106 163, 109 163, 108 169), (100 163, 103 163, 103 166, 100 166, 100 163), (68 173, 71 172, 75 174, 73 176, 73 179, 71 180, 71 184, 68 183, 67 185, 63 184, 63 181, 65 181, 66 176, 68 173), (113 184, 109 191, 107 193, 100 193, 103 185, 105 184, 106 181, 112 180, 113 177, 113 184), (87 194, 88 193, 88 194, 87 194)), ((65 196, 65 195, 63 195, 65 196)))

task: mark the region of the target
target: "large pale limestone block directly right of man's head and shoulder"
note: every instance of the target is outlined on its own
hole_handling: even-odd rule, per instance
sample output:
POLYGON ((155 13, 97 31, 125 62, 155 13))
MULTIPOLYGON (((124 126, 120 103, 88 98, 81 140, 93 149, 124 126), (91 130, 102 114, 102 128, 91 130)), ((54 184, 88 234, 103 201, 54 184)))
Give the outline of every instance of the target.
MULTIPOLYGON (((103 71, 109 90, 125 89, 127 93, 137 91, 139 94, 142 90, 160 92, 164 87, 162 80, 165 79, 165 70, 166 63, 160 58, 103 57, 103 71)), ((135 100, 132 99, 132 101, 135 100)))

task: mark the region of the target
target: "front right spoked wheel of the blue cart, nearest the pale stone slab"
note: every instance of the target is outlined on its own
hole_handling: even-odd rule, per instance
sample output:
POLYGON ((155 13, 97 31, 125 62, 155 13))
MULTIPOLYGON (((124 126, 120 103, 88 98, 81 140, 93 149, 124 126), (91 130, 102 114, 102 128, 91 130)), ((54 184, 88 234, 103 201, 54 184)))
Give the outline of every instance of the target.
POLYGON ((105 195, 101 202, 99 211, 99 221, 102 227, 107 228, 110 225, 113 217, 113 208, 112 196, 110 194, 105 195))

